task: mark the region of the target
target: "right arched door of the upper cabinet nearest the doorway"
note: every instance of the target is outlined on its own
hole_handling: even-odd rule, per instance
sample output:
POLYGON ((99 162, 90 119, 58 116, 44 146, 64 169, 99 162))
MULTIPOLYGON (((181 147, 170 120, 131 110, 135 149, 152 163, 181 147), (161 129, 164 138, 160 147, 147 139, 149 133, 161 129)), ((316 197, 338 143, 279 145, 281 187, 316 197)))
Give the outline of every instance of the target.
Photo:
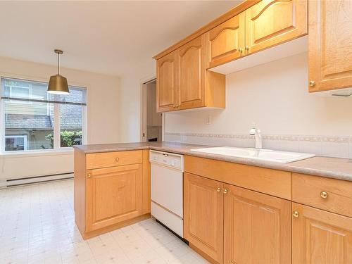
POLYGON ((177 84, 180 109, 205 106, 205 36, 184 44, 177 51, 177 84))

